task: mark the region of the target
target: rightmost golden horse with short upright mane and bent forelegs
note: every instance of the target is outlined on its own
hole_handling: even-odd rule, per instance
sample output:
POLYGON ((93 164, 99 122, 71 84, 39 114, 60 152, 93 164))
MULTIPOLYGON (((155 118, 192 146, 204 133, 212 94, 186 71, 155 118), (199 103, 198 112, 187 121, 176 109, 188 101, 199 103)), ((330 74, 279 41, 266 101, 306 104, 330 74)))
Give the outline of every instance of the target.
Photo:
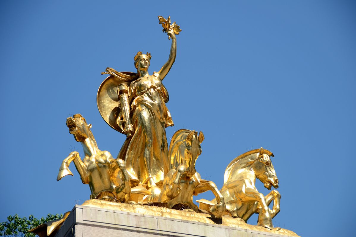
MULTIPOLYGON (((224 196, 226 210, 232 217, 240 217, 245 222, 258 214, 257 225, 272 230, 272 218, 279 212, 281 195, 272 190, 264 196, 255 187, 256 178, 265 184, 267 189, 271 186, 278 188, 278 178, 271 162, 271 151, 255 149, 248 151, 230 162, 225 170, 224 185, 220 192, 224 196), (273 200, 272 210, 268 208, 273 200)), ((214 205, 216 200, 209 202, 205 199, 198 200, 200 209, 207 209, 214 205)))

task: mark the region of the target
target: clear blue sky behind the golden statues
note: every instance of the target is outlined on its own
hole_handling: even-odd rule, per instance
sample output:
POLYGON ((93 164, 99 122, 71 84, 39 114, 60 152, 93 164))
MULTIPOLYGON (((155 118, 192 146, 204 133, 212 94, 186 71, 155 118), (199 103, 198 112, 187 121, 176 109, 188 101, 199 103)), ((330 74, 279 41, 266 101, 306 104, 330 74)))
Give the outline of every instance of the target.
POLYGON ((168 140, 180 128, 203 131, 197 171, 219 188, 236 156, 271 150, 282 195, 274 224, 300 236, 355 235, 355 10, 336 0, 3 1, 0 221, 89 198, 73 165, 74 177, 56 181, 70 151, 83 153, 66 118, 81 113, 116 156, 125 137, 96 107, 100 72, 135 71, 137 51, 151 52, 150 73, 159 70, 171 42, 157 16, 170 15, 182 32, 164 79, 168 140))

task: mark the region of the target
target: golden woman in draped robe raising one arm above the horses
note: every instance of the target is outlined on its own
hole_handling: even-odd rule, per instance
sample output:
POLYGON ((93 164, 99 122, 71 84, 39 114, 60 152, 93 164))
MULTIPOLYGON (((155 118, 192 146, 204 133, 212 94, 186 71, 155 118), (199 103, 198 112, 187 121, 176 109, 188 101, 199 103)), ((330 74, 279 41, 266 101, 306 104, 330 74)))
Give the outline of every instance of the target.
MULTIPOLYGON (((163 166, 168 162, 166 127, 174 125, 166 107, 168 92, 162 80, 176 59, 177 43, 172 29, 167 29, 167 34, 172 38, 171 51, 161 70, 150 75, 151 54, 138 52, 135 56, 138 78, 129 84, 128 92, 132 131, 126 132, 129 136, 117 156, 125 160, 131 181, 147 183, 148 188, 161 186, 163 182, 163 166)), ((106 71, 117 75, 112 68, 106 71)))

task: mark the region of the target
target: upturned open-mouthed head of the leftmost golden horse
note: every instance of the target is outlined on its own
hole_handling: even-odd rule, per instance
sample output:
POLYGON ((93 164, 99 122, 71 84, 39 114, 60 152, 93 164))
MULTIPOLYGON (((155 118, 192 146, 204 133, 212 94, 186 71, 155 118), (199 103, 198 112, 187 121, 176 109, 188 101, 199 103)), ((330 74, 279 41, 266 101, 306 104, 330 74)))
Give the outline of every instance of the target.
POLYGON ((90 131, 91 124, 87 124, 85 118, 81 114, 75 114, 73 117, 67 118, 67 127, 69 128, 69 133, 73 134, 74 139, 77 142, 83 142, 87 138, 93 138, 90 131))

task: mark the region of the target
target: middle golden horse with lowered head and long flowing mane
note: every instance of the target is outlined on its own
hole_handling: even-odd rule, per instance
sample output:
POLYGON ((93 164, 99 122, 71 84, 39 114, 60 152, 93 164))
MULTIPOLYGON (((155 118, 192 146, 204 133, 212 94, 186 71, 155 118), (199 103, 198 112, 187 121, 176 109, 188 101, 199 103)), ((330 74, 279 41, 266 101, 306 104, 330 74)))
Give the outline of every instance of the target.
POLYGON ((203 180, 195 170, 195 161, 201 154, 200 144, 204 140, 203 132, 180 129, 174 133, 169 146, 170 163, 164 164, 162 192, 158 202, 167 203, 168 208, 192 209, 200 212, 193 203, 193 195, 211 190, 218 202, 208 210, 215 217, 225 212, 224 197, 215 183, 203 180))

